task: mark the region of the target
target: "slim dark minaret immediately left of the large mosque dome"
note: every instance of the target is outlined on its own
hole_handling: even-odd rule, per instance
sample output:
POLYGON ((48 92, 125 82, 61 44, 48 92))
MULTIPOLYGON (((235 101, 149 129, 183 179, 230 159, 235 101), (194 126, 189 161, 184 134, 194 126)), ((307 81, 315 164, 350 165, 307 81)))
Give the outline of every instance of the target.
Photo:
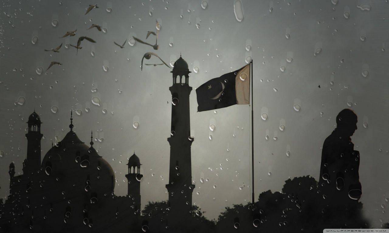
POLYGON ((43 134, 40 133, 40 117, 34 112, 28 117, 28 133, 27 138, 27 172, 37 172, 40 169, 40 139, 43 134))

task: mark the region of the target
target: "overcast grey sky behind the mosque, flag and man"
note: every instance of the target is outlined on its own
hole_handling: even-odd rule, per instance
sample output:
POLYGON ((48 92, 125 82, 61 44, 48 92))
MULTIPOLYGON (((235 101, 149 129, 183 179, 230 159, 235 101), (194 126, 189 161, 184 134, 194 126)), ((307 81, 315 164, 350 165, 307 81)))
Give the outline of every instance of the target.
MULTIPOLYGON (((70 109, 79 109, 74 130, 86 143, 90 130, 103 138, 95 148, 116 172, 116 195, 126 194, 125 164, 135 150, 143 164, 142 206, 167 200, 172 78, 166 66, 144 66, 141 71, 143 54, 156 52, 170 62, 182 53, 191 71, 199 67, 189 77, 193 89, 244 66, 250 55, 256 196, 281 190, 289 176, 318 180, 322 143, 335 128, 337 113, 351 108, 358 115, 352 140, 361 153, 360 201, 373 226, 379 226, 380 218, 389 221, 381 208, 389 195, 387 0, 242 0, 243 11, 236 3, 237 14, 233 0, 207 0, 206 9, 202 0, 117 0, 97 1, 100 8, 84 15, 95 2, 1 2, 0 150, 5 155, 0 158, 0 196, 8 193, 9 163, 14 161, 21 172, 27 146, 25 122, 34 108, 44 122, 42 158, 55 136, 62 139, 68 132, 70 109), (156 19, 161 23, 158 50, 140 43, 126 43, 124 49, 114 45, 132 36, 145 39, 147 31, 156 29, 156 19), (105 27, 106 33, 96 28, 86 31, 92 23, 105 27), (75 29, 76 36, 59 38, 75 29), (66 49, 65 43, 75 45, 79 36, 96 43, 84 40, 76 55, 76 49, 66 49), (44 51, 61 43, 60 53, 44 51), (251 49, 246 49, 248 44, 251 49), (36 72, 38 66, 46 70, 51 61, 62 65, 54 65, 47 74, 36 72), (109 67, 107 72, 103 66, 109 67), (20 96, 25 103, 15 105, 20 96), (92 103, 94 96, 101 100, 100 106, 92 103), (295 104, 300 111, 294 110, 295 104), (52 106, 58 107, 58 111, 53 108, 56 113, 52 106), (261 119, 264 112, 266 121, 261 119), (139 122, 137 129, 134 121, 139 122)), ((153 44, 154 37, 147 41, 153 44)), ((145 62, 159 63, 155 57, 145 62)), ((197 113, 194 90, 190 105, 195 136, 193 202, 206 211, 206 217, 217 218, 225 206, 251 200, 250 108, 235 105, 216 114, 197 113), (210 123, 216 125, 213 132, 210 123), (209 181, 201 183, 201 178, 209 181)))

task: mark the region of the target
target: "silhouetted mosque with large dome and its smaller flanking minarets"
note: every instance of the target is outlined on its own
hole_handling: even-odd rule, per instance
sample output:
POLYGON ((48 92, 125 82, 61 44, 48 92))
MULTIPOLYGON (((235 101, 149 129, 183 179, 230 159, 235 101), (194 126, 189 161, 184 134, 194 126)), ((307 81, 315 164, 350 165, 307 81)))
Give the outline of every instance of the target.
MULTIPOLYGON (((109 163, 73 131, 47 151, 42 163, 41 124, 34 111, 28 118, 27 158, 23 174, 9 165, 9 195, 0 207, 0 232, 91 232, 125 230, 140 216, 140 161, 128 161, 128 194, 114 194, 115 174, 109 163), (131 221, 133 220, 133 221, 131 221)), ((139 228, 140 229, 140 226, 139 228)))

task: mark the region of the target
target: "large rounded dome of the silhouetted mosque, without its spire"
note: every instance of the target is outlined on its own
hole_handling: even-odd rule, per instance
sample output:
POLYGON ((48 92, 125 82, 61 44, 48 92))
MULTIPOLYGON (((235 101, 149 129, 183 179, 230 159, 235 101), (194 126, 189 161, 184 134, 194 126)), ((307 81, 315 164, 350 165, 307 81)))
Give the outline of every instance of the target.
POLYGON ((83 187, 89 180, 88 193, 103 195, 114 191, 115 175, 112 167, 98 155, 95 148, 80 141, 72 130, 46 153, 42 167, 47 176, 59 179, 56 185, 60 190, 70 191, 76 186, 83 187))

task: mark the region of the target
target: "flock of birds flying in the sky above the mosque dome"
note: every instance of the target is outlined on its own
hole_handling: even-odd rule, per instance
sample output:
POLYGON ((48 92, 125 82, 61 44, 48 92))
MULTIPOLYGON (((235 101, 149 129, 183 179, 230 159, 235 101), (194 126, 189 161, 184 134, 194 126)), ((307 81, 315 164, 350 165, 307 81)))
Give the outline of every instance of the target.
MULTIPOLYGON (((94 5, 89 5, 88 9, 86 9, 85 14, 88 14, 91 10, 93 10, 93 9, 95 9, 95 8, 99 8, 99 7, 97 6, 97 3, 94 4, 94 5)), ((156 20, 156 31, 155 31, 155 32, 154 32, 154 31, 147 31, 146 40, 147 40, 147 38, 149 38, 149 36, 150 36, 151 34, 154 35, 154 36, 156 37, 156 39, 155 39, 155 44, 154 44, 154 45, 152 45, 152 44, 150 44, 150 43, 147 43, 147 42, 144 42, 144 41, 140 40, 139 38, 136 38, 136 37, 133 37, 133 38, 134 38, 137 42, 139 42, 139 43, 142 43, 142 44, 145 44, 145 45, 149 45, 149 46, 151 46, 154 50, 158 50, 158 48, 159 48, 159 45, 158 45, 158 31, 159 31, 160 26, 161 26, 161 24, 159 24, 158 21, 156 20)), ((102 27, 101 27, 100 25, 98 25, 98 24, 92 24, 87 30, 92 29, 92 28, 96 28, 98 31, 102 31, 102 27)), ((65 33, 65 35, 63 35, 63 36, 60 37, 60 38, 74 37, 74 36, 76 35, 76 32, 77 32, 77 29, 74 30, 74 31, 67 31, 67 32, 65 33)), ((81 47, 81 42, 82 42, 83 40, 87 40, 87 41, 89 41, 89 42, 91 42, 91 43, 96 43, 96 41, 93 40, 92 38, 89 38, 89 37, 86 37, 86 36, 79 37, 78 40, 77 40, 77 45, 72 45, 71 43, 69 43, 69 45, 70 45, 71 47, 74 47, 74 48, 77 49, 76 54, 78 54, 78 50, 79 50, 79 49, 82 49, 82 47, 81 47)), ((127 42, 127 39, 124 41, 124 43, 123 43, 122 45, 120 45, 120 44, 118 44, 118 43, 116 43, 116 42, 114 42, 114 44, 117 45, 117 46, 119 46, 121 49, 123 49, 123 48, 124 48, 124 45, 126 44, 126 42, 127 42)), ((62 43, 61 43, 58 47, 56 47, 56 48, 54 48, 54 49, 53 49, 53 48, 52 48, 52 49, 45 49, 45 51, 60 52, 59 50, 61 49, 61 47, 62 47, 62 43)), ((162 63, 160 63, 160 64, 157 64, 157 63, 155 63, 155 64, 145 64, 145 65, 158 66, 158 65, 163 65, 163 64, 165 64, 168 68, 170 68, 170 66, 168 66, 168 64, 166 64, 165 61, 163 61, 163 60, 161 59, 161 57, 159 57, 156 53, 154 53, 154 52, 146 52, 146 53, 144 54, 144 56, 142 57, 142 62, 141 62, 141 66, 140 66, 140 69, 141 69, 141 70, 143 70, 143 60, 144 60, 144 59, 149 60, 149 59, 151 58, 151 56, 156 56, 156 57, 158 57, 159 60, 162 61, 162 63)), ((51 68, 51 66, 53 66, 53 65, 55 65, 55 64, 62 65, 62 63, 60 63, 60 62, 52 61, 52 62, 50 63, 50 65, 49 65, 49 67, 46 69, 46 71, 49 70, 49 69, 51 68)))

